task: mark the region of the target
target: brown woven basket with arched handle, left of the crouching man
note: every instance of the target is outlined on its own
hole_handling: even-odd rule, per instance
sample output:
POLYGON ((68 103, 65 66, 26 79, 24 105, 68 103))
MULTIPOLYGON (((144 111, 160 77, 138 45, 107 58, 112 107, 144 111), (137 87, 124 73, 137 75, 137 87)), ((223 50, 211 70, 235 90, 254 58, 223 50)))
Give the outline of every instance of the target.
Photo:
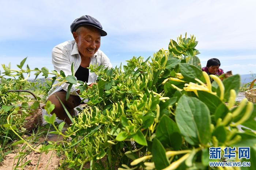
MULTIPOLYGON (((28 92, 34 96, 35 100, 37 100, 37 97, 35 96, 35 94, 27 90, 9 90, 9 92, 28 92)), ((21 114, 22 111, 18 111, 18 113, 21 114)), ((26 121, 23 123, 22 127, 26 128, 26 131, 31 131, 35 129, 35 127, 42 124, 42 120, 43 120, 42 115, 43 115, 43 112, 40 105, 35 110, 29 109, 29 116, 25 118, 26 121)))

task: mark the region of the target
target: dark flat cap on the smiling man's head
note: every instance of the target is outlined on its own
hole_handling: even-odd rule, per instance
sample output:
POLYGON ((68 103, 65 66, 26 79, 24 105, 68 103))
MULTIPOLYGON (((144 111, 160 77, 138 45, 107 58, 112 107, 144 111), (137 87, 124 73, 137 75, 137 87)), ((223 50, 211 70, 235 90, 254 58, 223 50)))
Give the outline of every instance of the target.
POLYGON ((107 35, 106 31, 102 29, 101 23, 90 15, 83 15, 80 18, 75 19, 75 21, 70 25, 71 33, 76 31, 76 29, 81 25, 91 25, 99 30, 101 36, 107 35))

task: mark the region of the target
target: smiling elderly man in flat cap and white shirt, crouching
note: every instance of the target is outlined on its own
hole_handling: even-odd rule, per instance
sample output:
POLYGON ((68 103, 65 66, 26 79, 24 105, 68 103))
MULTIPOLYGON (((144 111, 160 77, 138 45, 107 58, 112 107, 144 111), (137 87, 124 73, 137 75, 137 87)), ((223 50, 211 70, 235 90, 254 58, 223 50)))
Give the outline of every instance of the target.
MULTIPOLYGON (((62 70, 66 76, 71 75, 71 64, 74 63, 76 78, 92 86, 97 75, 91 73, 87 68, 90 64, 103 65, 105 68, 112 67, 109 58, 99 50, 101 36, 106 36, 107 33, 103 31, 101 23, 89 15, 84 15, 74 20, 70 28, 74 40, 65 41, 55 46, 52 50, 54 70, 57 72, 62 70)), ((81 99, 78 96, 80 91, 72 86, 71 95, 66 100, 68 85, 67 83, 63 83, 60 86, 52 88, 48 92, 49 97, 47 100, 50 100, 55 105, 52 113, 55 113, 58 118, 71 124, 71 120, 68 118, 68 115, 57 98, 58 96, 68 112, 74 116, 74 108, 81 104, 81 99)))

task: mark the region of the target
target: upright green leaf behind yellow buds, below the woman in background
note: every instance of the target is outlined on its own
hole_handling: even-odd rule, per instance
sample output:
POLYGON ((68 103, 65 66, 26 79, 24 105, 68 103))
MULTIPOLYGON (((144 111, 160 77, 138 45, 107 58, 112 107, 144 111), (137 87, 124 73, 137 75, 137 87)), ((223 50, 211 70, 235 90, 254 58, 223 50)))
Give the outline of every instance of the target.
MULTIPOLYGON (((230 76, 223 80, 223 84, 225 87, 225 93, 224 93, 224 101, 227 102, 229 100, 230 96, 230 90, 234 89, 236 93, 238 94, 240 89, 240 75, 236 74, 233 76, 230 76)), ((219 87, 217 89, 217 94, 220 96, 221 91, 219 90, 219 87)))

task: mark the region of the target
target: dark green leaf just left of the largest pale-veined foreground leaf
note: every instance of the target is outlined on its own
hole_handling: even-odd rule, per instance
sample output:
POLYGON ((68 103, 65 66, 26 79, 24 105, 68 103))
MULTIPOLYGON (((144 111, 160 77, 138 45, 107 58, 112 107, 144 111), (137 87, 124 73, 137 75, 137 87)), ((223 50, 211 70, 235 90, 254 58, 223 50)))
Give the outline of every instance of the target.
POLYGON ((173 147, 174 150, 180 148, 182 143, 180 130, 169 116, 162 116, 155 134, 164 147, 173 147))

